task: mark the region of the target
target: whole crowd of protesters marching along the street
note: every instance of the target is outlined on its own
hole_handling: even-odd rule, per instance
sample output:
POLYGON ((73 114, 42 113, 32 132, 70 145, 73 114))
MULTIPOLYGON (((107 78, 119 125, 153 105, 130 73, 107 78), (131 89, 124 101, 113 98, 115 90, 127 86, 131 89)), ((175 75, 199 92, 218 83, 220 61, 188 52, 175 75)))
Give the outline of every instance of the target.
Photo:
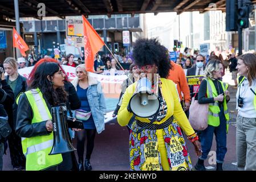
MULTIPOLYGON (((102 42, 96 38, 94 41, 102 42)), ((91 73, 103 75, 106 71, 124 71, 128 76, 117 93, 119 101, 112 117, 120 126, 127 126, 127 166, 131 170, 206 171, 204 161, 214 135, 216 170, 224 170, 230 120, 227 103, 231 98, 229 85, 222 77, 229 72, 235 82, 232 89, 237 89, 233 98, 238 110, 237 167, 256 170, 255 54, 237 56, 230 50, 206 56, 185 48, 183 52, 176 50, 176 59, 172 59, 157 39, 138 39, 132 55, 102 54, 97 49, 91 60, 76 48, 78 56, 70 53, 55 58, 30 51, 26 56, 2 61, 0 170, 7 148, 15 171, 94 169, 90 159, 97 155, 93 152, 96 133, 105 130, 106 104, 101 83, 91 73), (75 68, 74 80, 68 79, 64 66, 75 68), (28 78, 19 74, 19 69, 26 67, 32 68, 28 78), (148 89, 143 90, 141 85, 148 89), (155 98, 140 104, 143 94, 155 98), (146 112, 141 105, 151 108, 147 107, 146 112), (70 146, 77 140, 77 151, 58 148, 56 130, 60 128, 66 136, 63 140, 70 146), (193 150, 188 149, 185 138, 193 144, 193 150), (38 163, 42 152, 44 163, 38 163), (192 152, 198 156, 196 164, 191 162, 192 152)))

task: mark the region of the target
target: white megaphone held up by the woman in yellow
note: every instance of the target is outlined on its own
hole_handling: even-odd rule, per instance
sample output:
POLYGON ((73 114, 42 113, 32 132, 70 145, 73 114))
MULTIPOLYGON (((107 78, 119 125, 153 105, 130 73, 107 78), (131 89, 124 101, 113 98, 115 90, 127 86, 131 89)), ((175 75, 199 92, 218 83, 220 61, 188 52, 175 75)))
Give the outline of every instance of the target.
POLYGON ((131 111, 137 117, 148 118, 155 115, 160 108, 159 97, 152 92, 152 84, 143 77, 137 81, 136 91, 129 101, 131 111))

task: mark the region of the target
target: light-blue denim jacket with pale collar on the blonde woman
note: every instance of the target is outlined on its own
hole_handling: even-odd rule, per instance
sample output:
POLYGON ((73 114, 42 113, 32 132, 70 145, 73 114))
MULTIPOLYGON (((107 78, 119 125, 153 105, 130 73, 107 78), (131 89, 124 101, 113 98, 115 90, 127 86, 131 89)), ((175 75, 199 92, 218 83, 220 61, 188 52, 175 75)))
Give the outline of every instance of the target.
MULTIPOLYGON (((105 107, 105 98, 104 93, 102 91, 102 87, 100 82, 95 80, 95 78, 88 77, 88 90, 87 90, 87 99, 91 108, 92 118, 94 118, 94 123, 96 126, 97 133, 101 133, 105 130, 105 122, 104 122, 104 113, 106 110, 105 107)), ((72 81, 72 84, 75 86, 77 90, 78 86, 78 78, 75 78, 72 81)))

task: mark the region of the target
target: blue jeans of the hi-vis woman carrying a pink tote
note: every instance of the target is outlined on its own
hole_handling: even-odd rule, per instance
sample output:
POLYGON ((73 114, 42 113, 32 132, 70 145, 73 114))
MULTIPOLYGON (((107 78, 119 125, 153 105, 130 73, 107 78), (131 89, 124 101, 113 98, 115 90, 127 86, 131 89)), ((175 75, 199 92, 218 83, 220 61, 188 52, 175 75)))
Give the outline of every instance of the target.
POLYGON ((217 150, 216 150, 216 155, 217 155, 217 163, 223 163, 224 162, 224 157, 227 152, 227 134, 226 134, 226 118, 224 115, 224 109, 223 107, 220 107, 220 125, 217 127, 210 126, 202 131, 200 134, 201 137, 201 147, 202 147, 202 156, 200 159, 205 160, 207 159, 207 156, 210 152, 210 149, 212 147, 213 143, 213 134, 215 134, 216 138, 216 144, 217 144, 217 150))

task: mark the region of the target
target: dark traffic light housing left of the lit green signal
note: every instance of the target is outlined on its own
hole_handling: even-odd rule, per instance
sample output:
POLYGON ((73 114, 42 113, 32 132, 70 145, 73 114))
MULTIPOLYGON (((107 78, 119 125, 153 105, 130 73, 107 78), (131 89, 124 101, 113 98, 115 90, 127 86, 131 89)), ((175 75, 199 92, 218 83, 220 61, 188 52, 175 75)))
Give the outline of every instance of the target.
POLYGON ((226 31, 237 31, 237 0, 226 0, 226 31))

